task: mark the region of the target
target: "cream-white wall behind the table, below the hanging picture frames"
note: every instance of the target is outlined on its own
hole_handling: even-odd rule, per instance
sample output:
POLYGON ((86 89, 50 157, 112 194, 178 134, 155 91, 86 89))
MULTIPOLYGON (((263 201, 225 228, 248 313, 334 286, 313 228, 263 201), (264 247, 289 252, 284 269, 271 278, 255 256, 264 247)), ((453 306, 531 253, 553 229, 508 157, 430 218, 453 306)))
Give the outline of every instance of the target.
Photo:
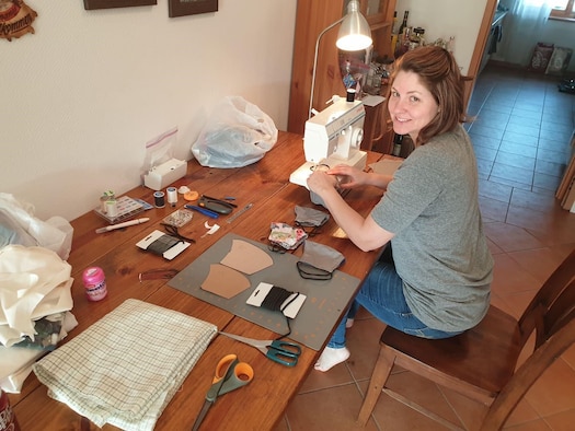
POLYGON ((296 2, 219 0, 216 13, 154 7, 85 11, 27 0, 35 34, 0 39, 0 191, 71 220, 102 191, 140 184, 145 145, 177 126, 174 155, 226 95, 286 129, 296 2))

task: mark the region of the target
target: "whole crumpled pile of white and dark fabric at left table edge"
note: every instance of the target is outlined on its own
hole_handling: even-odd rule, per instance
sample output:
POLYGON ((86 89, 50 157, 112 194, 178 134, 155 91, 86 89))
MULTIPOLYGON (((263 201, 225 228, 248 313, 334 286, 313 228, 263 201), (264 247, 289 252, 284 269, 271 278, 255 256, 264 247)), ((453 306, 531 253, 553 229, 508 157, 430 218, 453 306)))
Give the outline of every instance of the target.
POLYGON ((19 244, 0 248, 0 386, 19 393, 32 364, 78 323, 71 267, 55 252, 19 244))

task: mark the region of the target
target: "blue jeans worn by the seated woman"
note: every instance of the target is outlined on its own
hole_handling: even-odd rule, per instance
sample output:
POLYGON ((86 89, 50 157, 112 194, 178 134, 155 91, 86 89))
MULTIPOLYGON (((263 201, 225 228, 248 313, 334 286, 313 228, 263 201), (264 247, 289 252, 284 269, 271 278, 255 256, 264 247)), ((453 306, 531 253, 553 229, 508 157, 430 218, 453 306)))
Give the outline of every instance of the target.
POLYGON ((355 303, 340 322, 327 347, 334 349, 345 347, 345 322, 347 317, 355 316, 359 305, 389 326, 416 337, 439 339, 461 334, 461 331, 446 333, 429 328, 415 317, 405 302, 403 281, 395 272, 395 266, 392 261, 379 260, 368 273, 355 298, 355 303))

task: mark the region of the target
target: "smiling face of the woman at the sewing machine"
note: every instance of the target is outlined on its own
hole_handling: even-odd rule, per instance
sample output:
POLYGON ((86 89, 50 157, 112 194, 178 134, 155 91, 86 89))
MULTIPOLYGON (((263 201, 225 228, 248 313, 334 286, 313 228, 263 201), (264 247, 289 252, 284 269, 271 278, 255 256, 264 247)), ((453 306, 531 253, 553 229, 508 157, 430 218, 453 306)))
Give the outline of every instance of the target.
POLYGON ((416 73, 400 71, 391 88, 388 108, 393 131, 409 135, 415 142, 419 130, 435 118, 439 106, 416 73))

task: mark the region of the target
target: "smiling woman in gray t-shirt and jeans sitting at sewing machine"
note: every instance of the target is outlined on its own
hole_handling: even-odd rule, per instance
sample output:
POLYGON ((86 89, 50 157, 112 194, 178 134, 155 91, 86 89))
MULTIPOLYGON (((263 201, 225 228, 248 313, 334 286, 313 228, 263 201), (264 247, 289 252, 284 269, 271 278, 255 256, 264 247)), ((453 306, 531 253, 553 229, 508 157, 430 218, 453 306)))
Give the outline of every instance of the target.
MULTIPOLYGON (((383 323, 425 338, 447 338, 478 325, 490 303, 493 259, 478 199, 478 171, 465 120, 463 81, 452 55, 425 46, 394 65, 387 97, 393 131, 415 150, 393 178, 347 165, 315 172, 311 191, 363 251, 387 246, 355 301, 383 323), (387 189, 367 218, 337 188, 387 189), (391 247, 390 247, 391 245, 391 247)), ((346 318, 315 369, 349 357, 346 318)))

